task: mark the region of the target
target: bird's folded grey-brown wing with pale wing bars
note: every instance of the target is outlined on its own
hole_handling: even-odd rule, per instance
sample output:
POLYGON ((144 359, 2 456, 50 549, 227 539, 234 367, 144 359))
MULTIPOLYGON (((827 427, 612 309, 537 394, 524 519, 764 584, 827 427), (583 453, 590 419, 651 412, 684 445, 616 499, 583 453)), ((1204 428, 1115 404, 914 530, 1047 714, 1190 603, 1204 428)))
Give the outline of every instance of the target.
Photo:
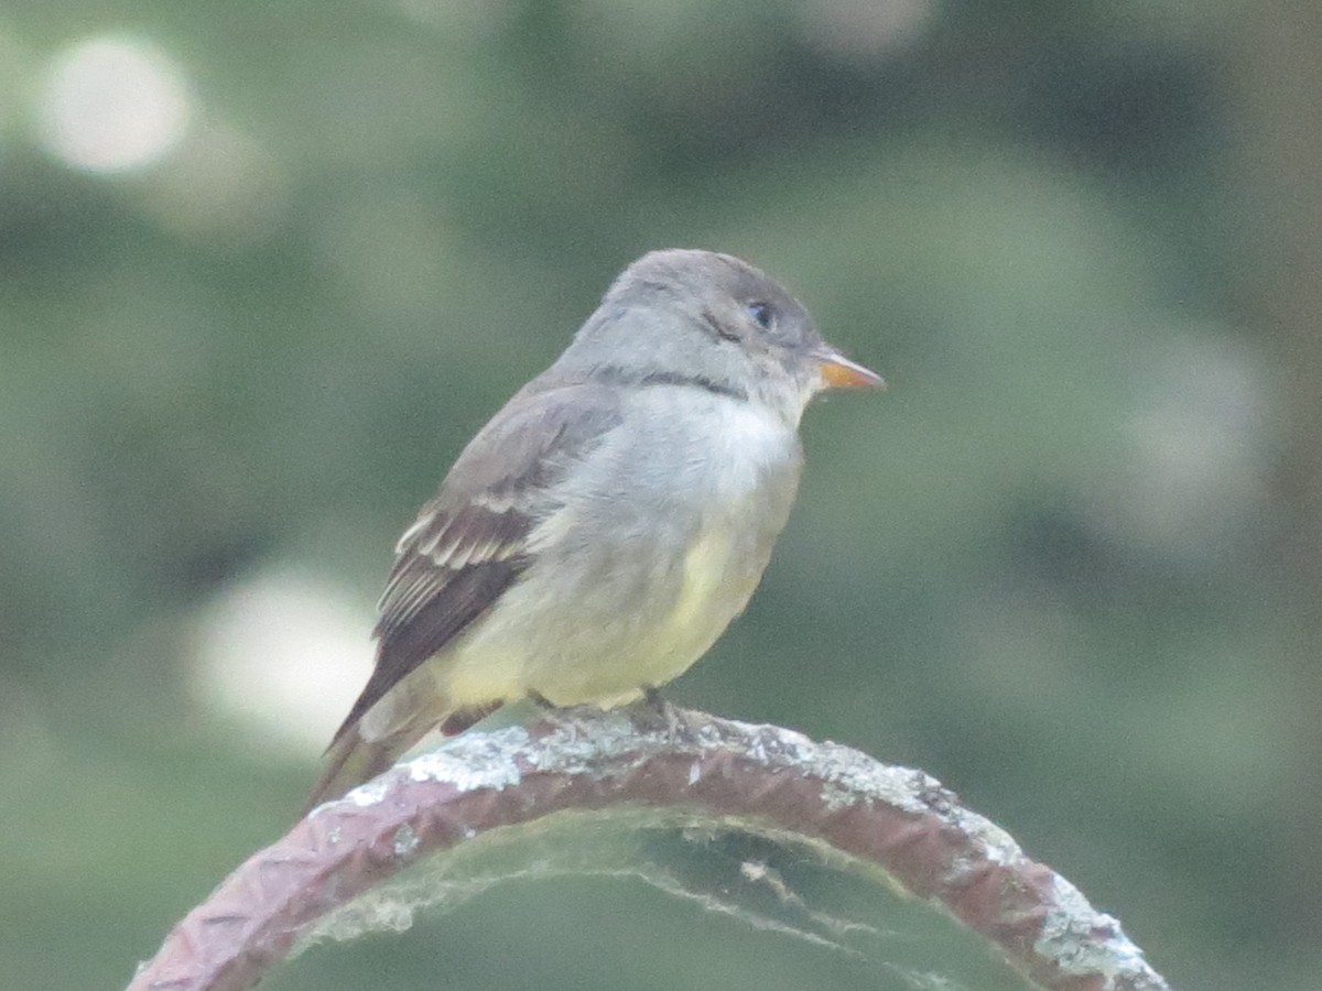
POLYGON ((527 568, 553 486, 620 423, 615 390, 525 390, 473 437, 395 548, 377 606, 377 666, 334 739, 496 604, 527 568))

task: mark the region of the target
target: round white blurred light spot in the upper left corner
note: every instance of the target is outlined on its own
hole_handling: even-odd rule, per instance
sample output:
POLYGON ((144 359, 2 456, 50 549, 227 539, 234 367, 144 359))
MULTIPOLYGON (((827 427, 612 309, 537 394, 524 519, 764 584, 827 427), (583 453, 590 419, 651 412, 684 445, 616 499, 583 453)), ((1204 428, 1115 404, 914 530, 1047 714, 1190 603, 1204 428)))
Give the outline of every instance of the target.
POLYGON ((145 168, 184 137, 190 96, 178 66, 147 41, 103 37, 56 55, 38 103, 41 141, 66 165, 145 168))

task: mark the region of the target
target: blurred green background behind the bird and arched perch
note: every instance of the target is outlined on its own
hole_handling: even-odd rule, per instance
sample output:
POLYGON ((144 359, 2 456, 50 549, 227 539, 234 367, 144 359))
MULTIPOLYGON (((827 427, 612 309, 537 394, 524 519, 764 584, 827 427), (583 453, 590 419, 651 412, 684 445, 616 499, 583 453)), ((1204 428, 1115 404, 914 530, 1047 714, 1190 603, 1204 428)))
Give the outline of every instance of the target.
MULTIPOLYGON (((1178 987, 1317 988, 1318 52, 1280 0, 12 0, 4 983, 124 983, 284 831, 416 506, 701 246, 891 388, 809 411, 670 696, 924 768, 1178 987)), ((436 986, 830 984, 583 884, 440 926, 436 986)))

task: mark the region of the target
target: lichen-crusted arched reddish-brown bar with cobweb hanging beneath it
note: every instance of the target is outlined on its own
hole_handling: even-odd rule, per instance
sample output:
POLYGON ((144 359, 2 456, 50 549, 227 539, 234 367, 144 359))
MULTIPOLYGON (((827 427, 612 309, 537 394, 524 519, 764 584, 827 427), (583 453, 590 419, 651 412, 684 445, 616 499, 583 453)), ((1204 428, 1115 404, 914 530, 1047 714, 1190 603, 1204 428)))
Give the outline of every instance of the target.
POLYGON ((869 926, 824 912, 791 875, 768 871, 763 850, 740 851, 735 880, 793 906, 795 918, 764 914, 756 897, 744 904, 738 883, 730 892, 691 887, 691 872, 650 859, 652 839, 674 830, 699 856, 719 846, 713 838, 759 836, 789 851, 781 863, 820 863, 919 895, 1042 987, 1166 988, 1116 920, 939 781, 776 727, 646 706, 543 712, 527 727, 448 740, 309 818, 190 913, 135 991, 249 987, 282 955, 271 946, 290 937, 305 946, 401 930, 416 909, 501 880, 574 873, 641 877, 752 925, 888 955, 880 945, 850 949, 849 934, 869 926), (239 918, 255 920, 249 942, 215 925, 239 918), (222 983, 206 983, 221 974, 222 983))

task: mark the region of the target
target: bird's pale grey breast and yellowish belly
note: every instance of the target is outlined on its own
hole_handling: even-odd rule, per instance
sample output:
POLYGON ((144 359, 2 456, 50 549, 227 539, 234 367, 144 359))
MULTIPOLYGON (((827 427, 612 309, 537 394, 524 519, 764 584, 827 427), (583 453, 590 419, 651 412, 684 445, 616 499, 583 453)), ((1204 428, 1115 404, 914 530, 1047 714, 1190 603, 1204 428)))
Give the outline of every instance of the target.
POLYGON ((670 680, 748 603, 798 464, 795 432, 769 411, 705 394, 640 398, 568 472, 530 536, 534 566, 476 632, 452 692, 467 673, 488 686, 497 669, 557 704, 608 704, 670 680))

